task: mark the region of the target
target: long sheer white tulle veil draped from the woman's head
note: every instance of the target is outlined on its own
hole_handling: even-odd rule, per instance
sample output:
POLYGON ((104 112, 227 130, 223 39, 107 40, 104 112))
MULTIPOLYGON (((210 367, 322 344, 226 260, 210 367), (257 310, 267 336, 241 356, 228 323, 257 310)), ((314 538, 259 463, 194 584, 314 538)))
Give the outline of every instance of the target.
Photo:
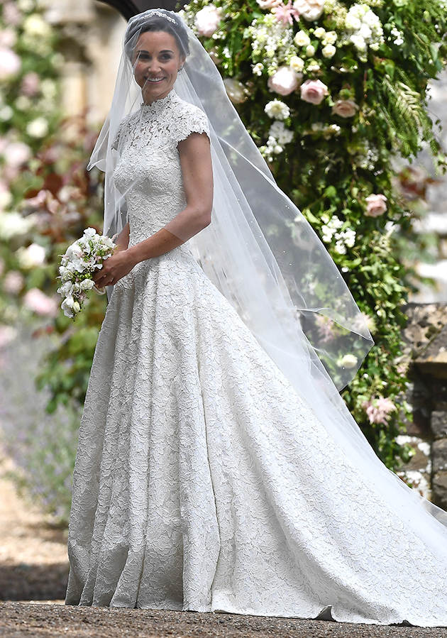
POLYGON ((131 40, 125 36, 111 111, 90 160, 89 168, 97 166, 106 174, 104 232, 112 236, 126 224, 126 193, 118 192, 113 181, 116 140, 123 120, 141 104, 128 52, 144 23, 155 17, 187 32, 189 55, 174 89, 208 116, 214 170, 210 226, 191 238, 183 222, 174 219, 168 229, 189 239, 206 275, 309 402, 334 443, 387 505, 446 561, 447 530, 438 522, 447 525, 446 513, 382 465, 338 395, 336 385, 343 387, 353 378, 373 343, 363 315, 316 233, 275 184, 214 62, 182 18, 164 9, 145 11, 129 21, 126 33, 131 30, 133 35, 131 40))

